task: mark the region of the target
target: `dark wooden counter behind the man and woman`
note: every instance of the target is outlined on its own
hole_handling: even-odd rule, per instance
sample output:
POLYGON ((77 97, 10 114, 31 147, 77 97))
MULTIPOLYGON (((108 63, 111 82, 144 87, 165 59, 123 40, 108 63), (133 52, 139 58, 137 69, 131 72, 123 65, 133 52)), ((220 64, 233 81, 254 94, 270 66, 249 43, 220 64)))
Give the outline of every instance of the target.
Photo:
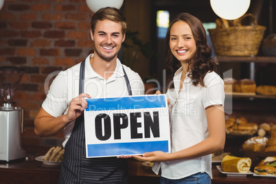
MULTIPOLYGON (((159 183, 159 176, 155 175, 149 167, 142 165, 143 162, 135 159, 128 159, 129 183, 159 183)), ((221 183, 275 183, 273 177, 256 176, 226 176, 221 174, 216 165, 212 166, 213 184, 221 183)), ((0 183, 3 184, 54 184, 58 183, 60 165, 49 166, 34 158, 30 160, 19 160, 12 163, 0 163, 0 183)))

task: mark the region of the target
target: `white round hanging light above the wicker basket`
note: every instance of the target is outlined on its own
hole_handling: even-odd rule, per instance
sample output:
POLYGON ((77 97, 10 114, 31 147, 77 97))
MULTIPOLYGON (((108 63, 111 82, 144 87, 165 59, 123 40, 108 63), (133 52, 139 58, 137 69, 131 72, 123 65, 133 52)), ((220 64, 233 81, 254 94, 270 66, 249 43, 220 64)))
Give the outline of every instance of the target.
POLYGON ((210 0, 211 8, 222 19, 233 20, 244 15, 250 0, 210 0))

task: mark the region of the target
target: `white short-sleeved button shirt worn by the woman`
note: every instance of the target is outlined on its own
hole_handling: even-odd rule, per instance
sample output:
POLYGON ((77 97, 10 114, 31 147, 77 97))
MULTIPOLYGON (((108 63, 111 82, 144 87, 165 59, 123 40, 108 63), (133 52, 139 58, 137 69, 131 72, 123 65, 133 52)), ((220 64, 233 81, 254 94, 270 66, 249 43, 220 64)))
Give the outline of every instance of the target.
MULTIPOLYGON (((170 99, 170 133, 172 152, 194 146, 209 136, 205 108, 224 106, 224 82, 217 73, 208 72, 203 80, 205 87, 195 87, 191 78, 186 78, 179 92, 182 68, 174 74, 174 89, 167 91, 170 99)), ((154 163, 152 170, 168 179, 183 179, 198 172, 211 175, 211 154, 196 159, 183 159, 154 163)))

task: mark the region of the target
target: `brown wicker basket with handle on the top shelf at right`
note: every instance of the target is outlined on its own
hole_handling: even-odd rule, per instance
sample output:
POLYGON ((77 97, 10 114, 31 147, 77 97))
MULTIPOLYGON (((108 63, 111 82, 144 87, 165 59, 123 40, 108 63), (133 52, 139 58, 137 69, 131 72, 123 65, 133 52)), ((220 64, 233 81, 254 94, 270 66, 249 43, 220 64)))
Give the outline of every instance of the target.
MULTIPOLYGON (((239 21, 242 21, 246 14, 239 21)), ((228 28, 216 28, 208 30, 211 42, 217 56, 255 56, 259 51, 266 27, 257 25, 240 25, 228 28)))

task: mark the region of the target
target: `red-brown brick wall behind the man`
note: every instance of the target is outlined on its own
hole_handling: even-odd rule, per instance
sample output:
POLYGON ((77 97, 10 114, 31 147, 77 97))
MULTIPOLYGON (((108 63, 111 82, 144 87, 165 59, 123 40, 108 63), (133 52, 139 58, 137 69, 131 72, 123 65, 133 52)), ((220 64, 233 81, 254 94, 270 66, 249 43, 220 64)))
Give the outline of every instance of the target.
POLYGON ((34 135, 34 117, 45 99, 45 78, 93 52, 92 15, 85 0, 5 0, 0 10, 0 66, 25 69, 14 97, 16 106, 25 108, 24 144, 56 143, 45 141, 53 137, 34 135))

